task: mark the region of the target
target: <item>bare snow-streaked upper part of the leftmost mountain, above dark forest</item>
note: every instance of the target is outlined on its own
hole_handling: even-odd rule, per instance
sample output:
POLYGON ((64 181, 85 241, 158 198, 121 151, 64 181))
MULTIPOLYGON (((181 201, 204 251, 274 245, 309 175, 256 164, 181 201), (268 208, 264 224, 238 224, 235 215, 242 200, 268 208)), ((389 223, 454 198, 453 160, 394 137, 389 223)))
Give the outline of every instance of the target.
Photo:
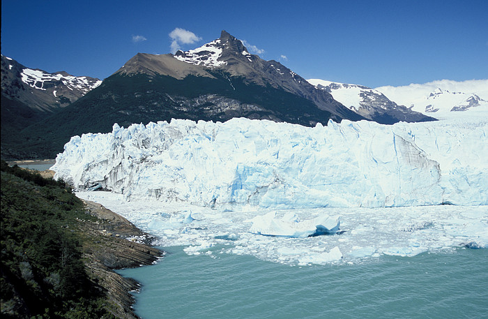
POLYGON ((93 77, 76 77, 61 71, 48 73, 26 68, 1 56, 1 93, 13 101, 41 112, 53 112, 77 101, 102 83, 93 77))

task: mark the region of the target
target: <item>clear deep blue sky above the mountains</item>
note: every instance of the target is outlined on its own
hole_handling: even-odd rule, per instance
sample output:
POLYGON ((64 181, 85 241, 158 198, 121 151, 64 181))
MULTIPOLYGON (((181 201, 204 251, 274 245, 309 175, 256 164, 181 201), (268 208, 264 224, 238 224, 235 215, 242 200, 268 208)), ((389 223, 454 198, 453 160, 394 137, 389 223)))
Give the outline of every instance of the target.
POLYGON ((2 0, 1 9, 2 54, 48 72, 103 79, 137 52, 169 53, 178 27, 201 38, 183 50, 224 29, 305 78, 368 87, 488 78, 488 0, 2 0))

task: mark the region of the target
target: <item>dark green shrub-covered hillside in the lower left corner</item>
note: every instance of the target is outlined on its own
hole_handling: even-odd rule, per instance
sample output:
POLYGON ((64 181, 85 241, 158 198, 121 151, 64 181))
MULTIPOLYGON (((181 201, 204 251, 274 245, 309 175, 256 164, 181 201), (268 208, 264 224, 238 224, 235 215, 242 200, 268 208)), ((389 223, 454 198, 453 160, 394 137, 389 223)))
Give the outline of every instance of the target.
POLYGON ((1 161, 2 318, 115 318, 82 260, 89 218, 63 181, 1 161))

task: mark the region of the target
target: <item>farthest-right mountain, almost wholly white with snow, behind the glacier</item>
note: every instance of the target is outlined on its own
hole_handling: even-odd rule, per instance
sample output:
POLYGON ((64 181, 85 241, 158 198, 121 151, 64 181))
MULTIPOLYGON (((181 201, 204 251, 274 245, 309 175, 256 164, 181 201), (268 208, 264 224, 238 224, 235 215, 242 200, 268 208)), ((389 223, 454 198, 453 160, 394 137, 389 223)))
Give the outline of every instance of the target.
POLYGON ((478 116, 479 112, 488 112, 488 80, 439 80, 403 87, 377 87, 376 90, 398 104, 437 118, 478 116))

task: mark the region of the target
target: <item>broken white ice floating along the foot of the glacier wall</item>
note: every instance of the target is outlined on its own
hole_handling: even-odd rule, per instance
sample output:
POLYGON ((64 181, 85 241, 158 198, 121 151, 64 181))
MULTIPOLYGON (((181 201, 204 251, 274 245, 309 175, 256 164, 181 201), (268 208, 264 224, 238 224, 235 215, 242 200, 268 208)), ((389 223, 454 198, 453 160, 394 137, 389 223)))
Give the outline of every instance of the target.
POLYGON ((381 255, 409 257, 466 243, 471 248, 488 244, 488 206, 231 210, 155 199, 127 202, 122 194, 110 192, 77 195, 100 202, 157 236, 158 246, 190 247, 185 251, 191 255, 234 253, 309 265, 360 262, 381 255), (182 221, 189 212, 195 219, 185 224, 182 221), (342 235, 307 237, 317 224, 333 230, 339 221, 339 232, 347 230, 342 235), (252 229, 287 236, 257 235, 252 229))

